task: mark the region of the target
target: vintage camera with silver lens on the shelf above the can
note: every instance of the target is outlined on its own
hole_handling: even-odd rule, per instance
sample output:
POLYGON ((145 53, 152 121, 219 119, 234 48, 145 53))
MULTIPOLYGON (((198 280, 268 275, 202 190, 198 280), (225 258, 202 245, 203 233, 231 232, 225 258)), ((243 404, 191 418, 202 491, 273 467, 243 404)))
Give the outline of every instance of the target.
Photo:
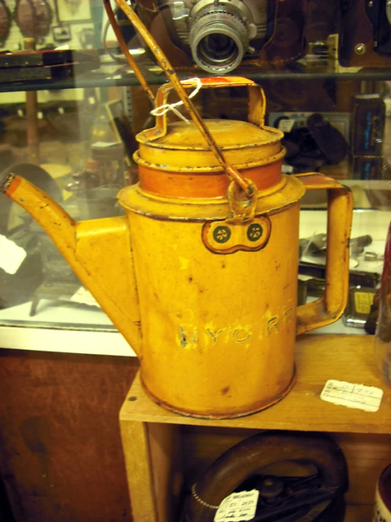
POLYGON ((305 4, 306 0, 160 0, 149 29, 175 68, 196 64, 210 74, 227 74, 246 60, 282 64, 302 57, 305 4))

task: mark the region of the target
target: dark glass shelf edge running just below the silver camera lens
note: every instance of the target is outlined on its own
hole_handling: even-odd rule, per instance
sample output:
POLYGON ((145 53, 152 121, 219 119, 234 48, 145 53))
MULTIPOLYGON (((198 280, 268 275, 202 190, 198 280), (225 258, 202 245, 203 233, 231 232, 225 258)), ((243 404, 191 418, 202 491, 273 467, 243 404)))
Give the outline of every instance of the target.
MULTIPOLYGON (((92 87, 113 87, 113 86, 138 86, 139 82, 134 72, 124 64, 107 62, 107 57, 99 69, 88 72, 80 72, 73 79, 54 79, 54 80, 29 80, 20 83, 1 83, 0 93, 17 91, 46 91, 72 88, 92 88, 92 87)), ((167 82, 167 76, 152 59, 145 56, 139 57, 138 66, 150 85, 161 85, 167 82)), ((181 69, 177 71, 181 79, 193 76, 211 76, 197 67, 181 69)), ((231 74, 225 76, 246 76, 256 82, 275 81, 275 80, 324 80, 336 79, 342 81, 385 81, 391 80, 391 69, 370 69, 363 68, 358 71, 355 68, 342 68, 339 66, 328 66, 326 64, 304 64, 294 62, 284 68, 263 69, 255 65, 242 64, 231 74)))

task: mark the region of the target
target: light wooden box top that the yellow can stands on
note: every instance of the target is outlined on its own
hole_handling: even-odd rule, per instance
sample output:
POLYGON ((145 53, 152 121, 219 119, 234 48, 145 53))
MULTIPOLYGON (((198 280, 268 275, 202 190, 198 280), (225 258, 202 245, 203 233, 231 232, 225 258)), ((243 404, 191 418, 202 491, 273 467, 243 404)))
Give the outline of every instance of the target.
POLYGON ((263 412, 231 420, 194 419, 164 410, 148 398, 137 376, 128 393, 128 398, 136 400, 127 398, 120 418, 193 426, 391 434, 391 389, 375 366, 373 336, 302 335, 296 345, 296 367, 297 383, 286 398, 263 412), (320 400, 330 378, 382 388, 380 409, 368 413, 320 400))

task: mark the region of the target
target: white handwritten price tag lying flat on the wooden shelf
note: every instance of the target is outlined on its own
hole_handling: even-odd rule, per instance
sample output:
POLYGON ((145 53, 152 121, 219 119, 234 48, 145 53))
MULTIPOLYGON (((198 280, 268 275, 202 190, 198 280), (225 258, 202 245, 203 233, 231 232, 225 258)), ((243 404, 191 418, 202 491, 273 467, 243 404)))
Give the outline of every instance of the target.
POLYGON ((340 406, 359 408, 365 412, 377 412, 383 398, 383 390, 374 386, 330 379, 325 383, 320 398, 340 406))

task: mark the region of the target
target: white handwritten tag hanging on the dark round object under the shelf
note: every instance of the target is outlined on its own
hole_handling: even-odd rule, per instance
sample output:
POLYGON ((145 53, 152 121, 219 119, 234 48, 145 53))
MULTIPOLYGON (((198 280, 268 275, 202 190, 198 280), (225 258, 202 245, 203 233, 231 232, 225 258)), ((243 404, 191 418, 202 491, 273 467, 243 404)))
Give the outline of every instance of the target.
POLYGON ((219 505, 215 514, 215 522, 251 520, 255 516, 258 497, 257 489, 230 494, 219 505))

